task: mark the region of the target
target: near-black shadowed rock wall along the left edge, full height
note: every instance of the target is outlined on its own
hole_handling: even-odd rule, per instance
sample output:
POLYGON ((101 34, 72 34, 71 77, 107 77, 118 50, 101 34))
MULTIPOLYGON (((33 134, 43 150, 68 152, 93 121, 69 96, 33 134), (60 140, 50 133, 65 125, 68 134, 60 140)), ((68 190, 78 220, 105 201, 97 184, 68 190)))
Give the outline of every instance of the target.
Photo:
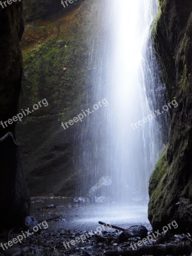
MULTIPOLYGON (((8 132, 15 135, 15 122, 7 122, 17 114, 22 79, 20 39, 23 34, 20 2, 0 8, 0 138, 8 132), (3 125, 2 125, 3 124, 3 125)), ((29 213, 27 192, 20 165, 18 146, 12 137, 0 142, 0 227, 11 227, 29 213)))

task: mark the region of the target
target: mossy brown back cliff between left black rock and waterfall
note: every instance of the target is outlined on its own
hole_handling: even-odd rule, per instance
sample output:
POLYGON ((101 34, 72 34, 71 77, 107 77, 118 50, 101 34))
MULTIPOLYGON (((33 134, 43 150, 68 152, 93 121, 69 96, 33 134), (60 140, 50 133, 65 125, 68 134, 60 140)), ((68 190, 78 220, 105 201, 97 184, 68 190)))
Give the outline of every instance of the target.
POLYGON ((83 123, 64 130, 61 122, 68 122, 92 105, 91 101, 86 101, 86 93, 89 94, 93 87, 90 77, 94 70, 89 67, 89 58, 91 56, 94 62, 95 49, 103 45, 100 41, 102 19, 99 18, 103 1, 77 1, 68 10, 59 1, 60 11, 54 11, 53 15, 49 10, 54 1, 48 1, 46 6, 43 1, 33 2, 36 7, 32 21, 29 21, 30 1, 24 6, 27 22, 22 40, 20 109, 32 108, 44 98, 49 105, 18 122, 21 157, 32 195, 69 196, 84 171, 74 172, 74 155, 81 144, 78 134, 81 134, 83 123), (39 5, 44 7, 42 16, 39 5))

